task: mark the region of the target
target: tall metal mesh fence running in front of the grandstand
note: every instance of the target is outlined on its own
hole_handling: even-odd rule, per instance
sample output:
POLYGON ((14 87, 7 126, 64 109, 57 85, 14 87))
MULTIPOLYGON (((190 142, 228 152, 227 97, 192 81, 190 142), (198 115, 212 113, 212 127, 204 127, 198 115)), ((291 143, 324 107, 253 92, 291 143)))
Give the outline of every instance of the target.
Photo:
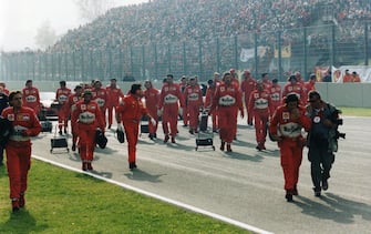
POLYGON ((316 67, 369 65, 371 23, 349 22, 260 32, 172 44, 80 48, 74 51, 22 51, 1 53, 0 80, 90 81, 161 80, 197 75, 202 82, 215 71, 251 70, 280 81, 290 71, 305 77, 316 67))

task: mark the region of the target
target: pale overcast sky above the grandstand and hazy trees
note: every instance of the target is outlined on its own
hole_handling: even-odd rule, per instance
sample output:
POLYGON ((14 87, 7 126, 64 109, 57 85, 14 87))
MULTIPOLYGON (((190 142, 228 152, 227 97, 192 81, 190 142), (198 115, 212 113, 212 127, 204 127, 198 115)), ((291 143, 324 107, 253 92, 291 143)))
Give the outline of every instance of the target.
MULTIPOLYGON (((116 6, 148 0, 116 0, 116 6)), ((49 21, 56 34, 83 24, 75 0, 0 0, 0 51, 35 49, 34 37, 49 21)))

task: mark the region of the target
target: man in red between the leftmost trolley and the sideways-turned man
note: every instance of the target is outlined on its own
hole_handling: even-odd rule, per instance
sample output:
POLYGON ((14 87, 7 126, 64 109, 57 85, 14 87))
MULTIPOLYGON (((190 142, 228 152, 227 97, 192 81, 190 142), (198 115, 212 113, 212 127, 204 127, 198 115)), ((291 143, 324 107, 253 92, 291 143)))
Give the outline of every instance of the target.
POLYGON ((104 133, 104 121, 96 102, 92 101, 92 92, 85 90, 83 100, 76 103, 72 113, 71 125, 79 135, 79 151, 82 161, 82 170, 93 170, 92 161, 95 147, 95 131, 101 129, 104 133))

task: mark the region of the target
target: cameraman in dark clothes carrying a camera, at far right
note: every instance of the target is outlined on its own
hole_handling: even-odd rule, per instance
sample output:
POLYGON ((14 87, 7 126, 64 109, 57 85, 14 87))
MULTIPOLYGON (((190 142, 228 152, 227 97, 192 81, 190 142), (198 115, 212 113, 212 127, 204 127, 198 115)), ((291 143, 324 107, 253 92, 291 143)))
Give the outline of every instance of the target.
POLYGON ((315 195, 320 196, 321 190, 329 187, 331 165, 334 161, 333 152, 337 151, 337 130, 341 124, 339 110, 321 100, 317 91, 308 94, 307 116, 312 125, 308 134, 308 159, 311 163, 311 179, 315 195))

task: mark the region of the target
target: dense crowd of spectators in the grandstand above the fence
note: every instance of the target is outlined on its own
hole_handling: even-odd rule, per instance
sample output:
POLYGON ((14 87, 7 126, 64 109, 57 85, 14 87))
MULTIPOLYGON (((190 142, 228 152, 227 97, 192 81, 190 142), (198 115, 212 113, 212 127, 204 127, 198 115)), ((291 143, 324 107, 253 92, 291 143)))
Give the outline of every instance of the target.
POLYGON ((212 40, 307 27, 321 14, 333 16, 331 20, 337 23, 364 20, 371 19, 371 7, 368 0, 154 0, 112 9, 95 21, 70 30, 52 50, 212 40))

